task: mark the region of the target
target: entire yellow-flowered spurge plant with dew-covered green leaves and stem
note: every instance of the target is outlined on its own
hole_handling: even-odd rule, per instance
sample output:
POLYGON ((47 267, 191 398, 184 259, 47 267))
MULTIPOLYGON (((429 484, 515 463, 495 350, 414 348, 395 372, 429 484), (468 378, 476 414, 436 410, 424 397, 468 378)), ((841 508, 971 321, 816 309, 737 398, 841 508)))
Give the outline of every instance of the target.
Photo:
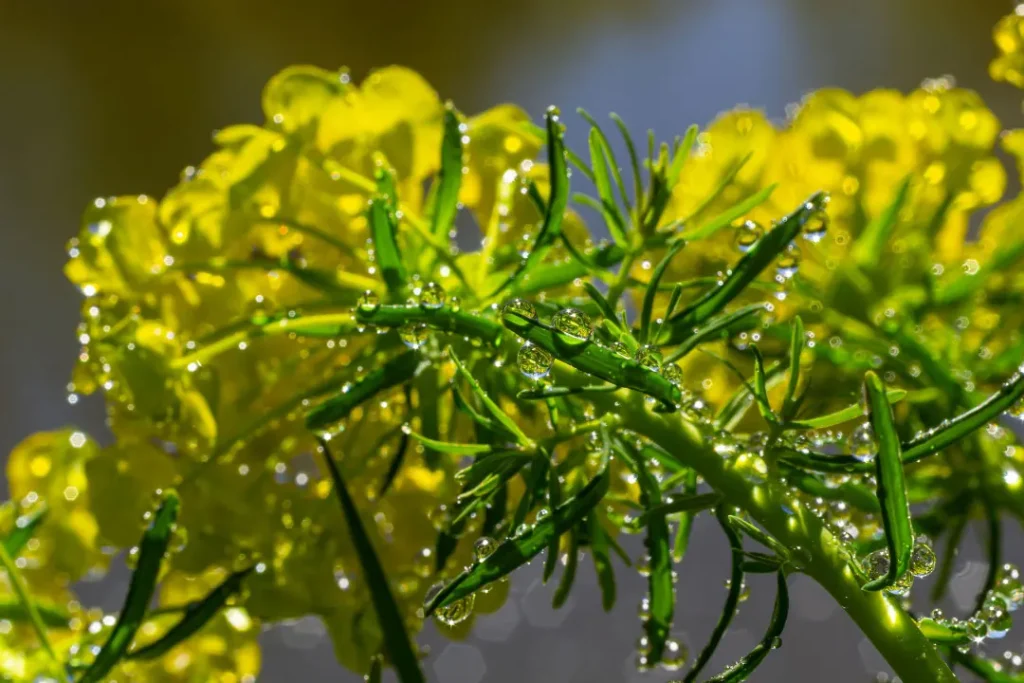
MULTIPOLYGON (((993 62, 1018 84, 1021 27, 993 62)), ((397 68, 289 69, 263 108, 162 200, 96 200, 69 247, 69 400, 103 392, 115 438, 11 454, 5 680, 251 681, 256 625, 314 615, 344 666, 421 681, 424 620, 464 635, 534 559, 555 608, 588 566, 605 609, 646 574, 638 666, 687 682, 756 679, 797 572, 905 682, 1024 680, 993 649, 1024 604, 1024 209, 966 240, 1006 184, 976 94, 822 90, 669 142, 466 117, 397 68), (701 514, 730 563, 702 646, 672 635, 701 514), (976 607, 912 611, 979 519, 976 607), (123 608, 83 609, 69 584, 119 550, 123 608), (764 635, 711 671, 752 573, 776 579, 764 635)))

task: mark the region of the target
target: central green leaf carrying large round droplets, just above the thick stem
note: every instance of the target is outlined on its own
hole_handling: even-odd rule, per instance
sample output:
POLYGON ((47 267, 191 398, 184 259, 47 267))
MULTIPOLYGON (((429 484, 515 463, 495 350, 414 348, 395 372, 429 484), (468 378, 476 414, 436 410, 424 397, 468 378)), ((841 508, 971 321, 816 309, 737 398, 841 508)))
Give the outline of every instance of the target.
POLYGON ((503 322, 505 327, 520 337, 534 342, 581 372, 617 386, 636 389, 659 399, 666 407, 674 408, 682 399, 679 387, 675 384, 636 360, 624 358, 593 340, 583 344, 566 343, 548 325, 515 313, 506 314, 503 322))

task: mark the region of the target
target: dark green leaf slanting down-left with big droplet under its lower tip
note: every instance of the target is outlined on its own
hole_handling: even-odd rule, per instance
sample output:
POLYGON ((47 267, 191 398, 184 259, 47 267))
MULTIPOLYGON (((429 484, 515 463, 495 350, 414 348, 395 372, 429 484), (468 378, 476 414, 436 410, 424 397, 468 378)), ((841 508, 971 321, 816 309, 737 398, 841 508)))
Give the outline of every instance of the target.
POLYGON ((604 469, 532 528, 506 540, 486 559, 456 577, 426 605, 426 613, 429 615, 528 562, 550 545, 553 537, 561 536, 586 517, 607 490, 608 471, 604 469))

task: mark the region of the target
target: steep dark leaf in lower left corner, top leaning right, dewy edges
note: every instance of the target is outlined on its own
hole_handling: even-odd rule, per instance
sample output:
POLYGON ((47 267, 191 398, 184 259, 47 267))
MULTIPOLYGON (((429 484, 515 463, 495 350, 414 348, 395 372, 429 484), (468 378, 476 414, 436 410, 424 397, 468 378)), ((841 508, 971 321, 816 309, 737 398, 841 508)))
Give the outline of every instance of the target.
POLYGON ((164 562, 164 554, 170 545, 174 522, 178 517, 178 497, 173 493, 165 494, 160 508, 138 544, 138 564, 131 574, 128 595, 125 596, 117 624, 114 625, 114 630, 111 631, 92 665, 82 674, 79 683, 97 683, 103 680, 127 653, 128 646, 131 645, 138 627, 145 617, 153 593, 157 588, 160 567, 164 562))

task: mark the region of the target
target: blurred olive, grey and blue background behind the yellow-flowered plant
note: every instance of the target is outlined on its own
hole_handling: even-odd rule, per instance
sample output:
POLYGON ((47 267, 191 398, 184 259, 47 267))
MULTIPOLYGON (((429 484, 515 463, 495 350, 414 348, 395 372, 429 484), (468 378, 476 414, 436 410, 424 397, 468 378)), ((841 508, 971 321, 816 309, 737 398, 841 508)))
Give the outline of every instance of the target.
MULTIPOLYGON (((27 434, 76 423, 102 433, 102 407, 72 407, 65 386, 77 352, 80 295, 61 275, 65 243, 97 196, 161 197, 211 150, 212 130, 261 122, 266 80, 292 63, 348 66, 355 80, 400 63, 421 72, 466 113, 514 101, 540 118, 615 111, 660 139, 736 103, 781 117, 805 92, 841 86, 914 88, 955 76, 1007 126, 1020 98, 992 84, 991 29, 1007 0, 117 0, 0 4, 0 453, 27 434)), ((568 142, 586 128, 569 124, 568 142)), ((727 548, 701 518, 680 571, 680 635, 702 647, 725 597, 727 548), (702 522, 702 523, 700 523, 702 522)), ((1019 535, 1017 536, 1019 539, 1019 535)), ((1020 544, 1008 549, 1021 563, 1020 544)), ((947 614, 973 604, 985 566, 963 553, 947 614)), ((123 573, 123 572, 122 572, 123 573)), ((571 683, 670 679, 634 668, 642 580, 621 572, 614 612, 601 611, 593 572, 581 569, 568 604, 550 607, 540 567, 516 577, 497 614, 465 642, 428 626, 426 671, 441 683, 571 683)), ((86 602, 117 609, 123 586, 86 586, 86 602)), ((756 578, 755 578, 756 579, 756 578)), ((768 579, 768 583, 773 582, 768 579)), ((709 672, 761 637, 774 589, 752 597, 709 672)), ((809 580, 791 581, 786 647, 755 681, 886 681, 885 663, 809 580)), ((759 589, 765 590, 759 590, 759 589)), ((1021 633, 1006 645, 1021 649, 1021 633)), ((263 635, 261 681, 361 680, 335 663, 315 621, 263 635)))

